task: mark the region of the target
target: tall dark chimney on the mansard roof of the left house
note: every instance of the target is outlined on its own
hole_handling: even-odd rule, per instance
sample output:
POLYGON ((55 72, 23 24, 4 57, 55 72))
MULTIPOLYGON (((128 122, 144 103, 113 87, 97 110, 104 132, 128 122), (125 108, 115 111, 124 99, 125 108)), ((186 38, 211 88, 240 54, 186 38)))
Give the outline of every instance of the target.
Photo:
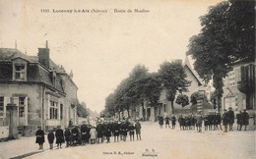
POLYGON ((46 40, 45 48, 38 48, 38 62, 45 68, 50 69, 50 49, 48 48, 48 41, 46 40))

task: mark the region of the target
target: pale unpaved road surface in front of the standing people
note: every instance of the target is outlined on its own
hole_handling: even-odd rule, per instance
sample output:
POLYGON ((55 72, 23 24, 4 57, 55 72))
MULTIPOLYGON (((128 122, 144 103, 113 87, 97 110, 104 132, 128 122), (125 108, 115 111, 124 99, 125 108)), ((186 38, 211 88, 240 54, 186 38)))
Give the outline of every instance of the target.
MULTIPOLYGON (((89 144, 49 150, 38 150, 35 137, 0 142, 0 158, 204 158, 204 159, 250 159, 255 155, 255 131, 241 132, 195 132, 160 129, 158 123, 141 123, 142 140, 89 144)), ((46 138, 46 137, 45 137, 46 138)))

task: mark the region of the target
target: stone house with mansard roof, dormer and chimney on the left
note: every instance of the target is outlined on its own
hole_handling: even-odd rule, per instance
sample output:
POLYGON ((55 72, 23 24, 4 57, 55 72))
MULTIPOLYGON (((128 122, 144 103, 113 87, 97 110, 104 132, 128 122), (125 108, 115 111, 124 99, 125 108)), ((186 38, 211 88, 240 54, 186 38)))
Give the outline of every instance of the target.
POLYGON ((78 87, 49 56, 38 48, 37 56, 17 49, 0 48, 0 126, 6 125, 6 105, 18 106, 19 130, 32 135, 37 126, 48 131, 58 125, 77 123, 78 87))

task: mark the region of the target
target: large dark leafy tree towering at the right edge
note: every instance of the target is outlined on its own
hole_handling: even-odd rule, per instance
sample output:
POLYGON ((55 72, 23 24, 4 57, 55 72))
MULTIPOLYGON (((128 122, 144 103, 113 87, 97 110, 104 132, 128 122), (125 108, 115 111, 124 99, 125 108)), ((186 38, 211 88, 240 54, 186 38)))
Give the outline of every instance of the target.
POLYGON ((233 63, 255 59, 255 2, 227 0, 209 9, 200 18, 201 32, 190 38, 187 54, 195 59, 194 68, 208 83, 213 79, 220 111, 224 78, 233 63))

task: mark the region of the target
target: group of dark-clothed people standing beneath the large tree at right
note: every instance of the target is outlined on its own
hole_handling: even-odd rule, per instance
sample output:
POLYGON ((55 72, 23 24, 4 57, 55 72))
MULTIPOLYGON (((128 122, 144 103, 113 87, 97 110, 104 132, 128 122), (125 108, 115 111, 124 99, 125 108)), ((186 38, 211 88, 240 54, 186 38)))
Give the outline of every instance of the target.
MULTIPOLYGON (((241 131, 244 126, 244 131, 249 125, 249 115, 244 109, 236 115, 237 121, 237 131, 241 131)), ((169 127, 169 121, 171 121, 171 129, 175 129, 176 118, 174 115, 169 118, 166 116, 164 119, 162 116, 158 117, 160 128, 162 128, 163 122, 165 122, 165 128, 169 127)), ((211 112, 209 114, 202 114, 199 112, 197 115, 179 115, 178 120, 180 131, 198 131, 202 132, 202 127, 204 125, 205 131, 218 131, 223 130, 222 124, 224 125, 224 132, 233 131, 234 124, 234 112, 231 107, 228 111, 224 109, 224 114, 221 116, 219 112, 211 112)))

